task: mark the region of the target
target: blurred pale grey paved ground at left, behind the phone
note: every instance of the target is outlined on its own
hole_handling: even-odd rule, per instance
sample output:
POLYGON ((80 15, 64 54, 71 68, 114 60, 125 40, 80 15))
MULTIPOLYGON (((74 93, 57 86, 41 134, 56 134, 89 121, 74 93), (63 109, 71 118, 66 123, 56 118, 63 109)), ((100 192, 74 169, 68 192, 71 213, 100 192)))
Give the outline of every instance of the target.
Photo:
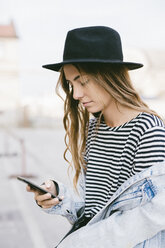
POLYGON ((63 160, 63 129, 0 130, 0 247, 52 248, 69 230, 61 216, 48 215, 13 176, 24 173, 36 183, 56 178, 69 184, 63 160), (25 156, 19 138, 25 141, 25 156), (13 178, 11 178, 11 176, 13 178))

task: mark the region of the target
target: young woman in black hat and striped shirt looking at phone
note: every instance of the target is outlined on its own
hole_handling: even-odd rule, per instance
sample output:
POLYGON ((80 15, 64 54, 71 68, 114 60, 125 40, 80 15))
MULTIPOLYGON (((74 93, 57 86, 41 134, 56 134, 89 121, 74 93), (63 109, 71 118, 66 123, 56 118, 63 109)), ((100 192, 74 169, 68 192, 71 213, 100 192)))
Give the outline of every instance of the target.
POLYGON ((66 94, 64 157, 78 196, 51 180, 42 187, 57 198, 34 191, 73 224, 58 247, 165 247, 165 127, 131 83, 142 66, 123 61, 119 34, 103 26, 69 31, 63 62, 43 66, 60 72, 66 94))

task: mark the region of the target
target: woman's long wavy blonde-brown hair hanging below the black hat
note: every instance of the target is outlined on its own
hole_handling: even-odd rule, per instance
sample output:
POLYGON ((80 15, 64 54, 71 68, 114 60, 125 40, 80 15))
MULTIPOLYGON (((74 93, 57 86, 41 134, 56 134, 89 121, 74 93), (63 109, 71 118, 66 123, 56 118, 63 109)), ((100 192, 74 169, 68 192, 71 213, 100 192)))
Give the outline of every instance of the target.
MULTIPOLYGON (((125 66, 103 63, 81 63, 75 64, 74 66, 80 73, 83 72, 89 77, 92 77, 96 83, 109 92, 116 103, 139 112, 147 112, 158 116, 155 111, 151 110, 147 104, 143 102, 134 89, 128 69, 125 66)), ((73 183, 76 188, 81 168, 86 169, 83 156, 85 153, 89 113, 82 107, 78 100, 73 98, 73 89, 70 88, 65 79, 63 68, 60 71, 60 77, 56 87, 58 95, 60 86, 66 94, 63 118, 63 124, 66 130, 64 159, 69 163, 69 167, 74 166, 75 176, 73 183), (71 153, 72 161, 68 161, 66 158, 67 151, 71 153)), ((99 116, 98 113, 96 113, 96 116, 99 116)))

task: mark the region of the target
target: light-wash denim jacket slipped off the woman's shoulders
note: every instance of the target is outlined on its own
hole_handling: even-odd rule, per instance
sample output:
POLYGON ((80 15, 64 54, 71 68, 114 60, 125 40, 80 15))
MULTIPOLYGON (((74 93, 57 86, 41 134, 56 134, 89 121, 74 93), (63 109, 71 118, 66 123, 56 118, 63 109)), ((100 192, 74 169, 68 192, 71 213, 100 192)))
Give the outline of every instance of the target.
MULTIPOLYGON (((81 178, 80 199, 59 183, 64 200, 46 210, 74 223, 84 206, 85 181, 81 178)), ((123 183, 107 204, 85 227, 73 232, 59 248, 164 248, 165 162, 137 173, 123 183)))

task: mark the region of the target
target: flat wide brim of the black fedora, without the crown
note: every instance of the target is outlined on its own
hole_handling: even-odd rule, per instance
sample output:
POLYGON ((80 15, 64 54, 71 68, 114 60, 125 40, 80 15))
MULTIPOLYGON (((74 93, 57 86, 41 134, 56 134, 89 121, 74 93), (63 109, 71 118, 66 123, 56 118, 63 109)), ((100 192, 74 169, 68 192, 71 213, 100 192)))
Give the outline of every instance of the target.
POLYGON ((105 63, 105 64, 115 64, 115 65, 125 65, 128 70, 135 70, 135 69, 139 69, 141 67, 143 67, 143 64, 140 63, 134 63, 134 62, 123 62, 123 61, 117 61, 117 60, 90 60, 90 59, 86 59, 86 60, 67 60, 61 63, 56 63, 56 64, 47 64, 47 65, 43 65, 43 68, 52 70, 52 71, 59 71, 60 68, 63 65, 66 64, 74 64, 74 63, 105 63))

